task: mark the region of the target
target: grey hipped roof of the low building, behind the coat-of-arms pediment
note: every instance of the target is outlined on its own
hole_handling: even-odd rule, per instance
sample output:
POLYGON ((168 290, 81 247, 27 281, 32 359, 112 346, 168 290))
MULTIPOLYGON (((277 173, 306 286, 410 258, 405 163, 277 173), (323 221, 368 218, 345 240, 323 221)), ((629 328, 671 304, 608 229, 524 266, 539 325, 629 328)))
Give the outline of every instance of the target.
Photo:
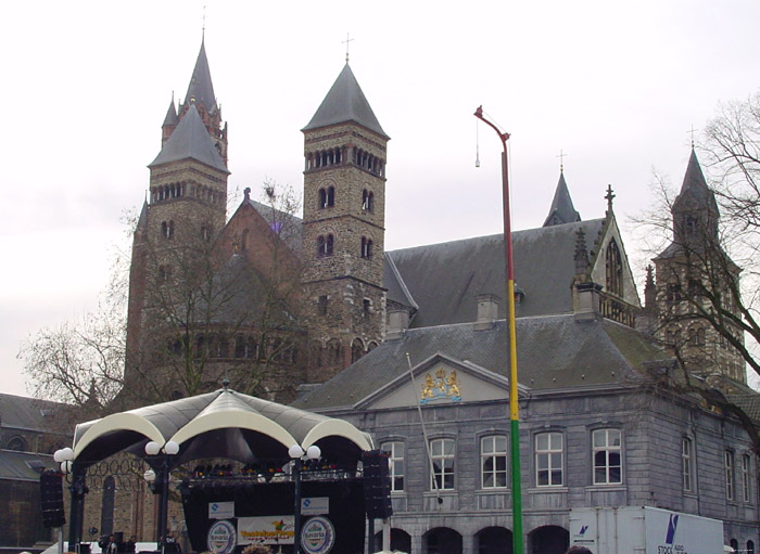
MULTIPOLYGON (((474 331, 472 323, 408 330, 387 340, 292 405, 347 408, 442 353, 499 375, 509 374, 506 321, 474 331)), ((644 364, 668 357, 643 334, 610 320, 575 321, 573 315, 517 321, 519 383, 531 390, 624 385, 639 382, 644 364), (550 345, 552 348, 547 348, 550 345)))

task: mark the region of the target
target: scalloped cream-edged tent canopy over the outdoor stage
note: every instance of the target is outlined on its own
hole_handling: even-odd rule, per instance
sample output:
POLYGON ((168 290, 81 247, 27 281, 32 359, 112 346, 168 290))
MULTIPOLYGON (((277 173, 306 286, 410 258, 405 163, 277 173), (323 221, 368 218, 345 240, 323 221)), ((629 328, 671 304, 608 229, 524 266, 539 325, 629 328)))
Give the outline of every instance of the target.
POLYGON ((144 458, 145 443, 169 440, 180 448, 173 466, 203 458, 284 463, 294 445, 304 451, 317 445, 331 461, 355 465, 362 451, 372 449, 369 435, 343 420, 221 388, 81 423, 74 461, 88 466, 117 452, 144 458))

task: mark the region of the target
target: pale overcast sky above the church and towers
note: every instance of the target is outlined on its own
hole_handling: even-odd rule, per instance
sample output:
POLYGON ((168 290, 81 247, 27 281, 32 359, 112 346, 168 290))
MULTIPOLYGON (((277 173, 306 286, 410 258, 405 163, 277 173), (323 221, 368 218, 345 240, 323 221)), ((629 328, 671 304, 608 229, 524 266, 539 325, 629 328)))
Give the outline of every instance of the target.
MULTIPOLYGON (((229 123, 230 194, 303 183, 304 127, 344 64, 392 138, 385 245, 502 229, 496 134, 511 133, 515 229, 540 227, 565 176, 584 219, 605 189, 625 227, 679 185, 692 126, 760 88, 760 2, 218 0, 3 5, 0 391, 26 394, 20 343, 96 306, 123 215, 148 186, 161 124, 205 44, 229 123)), ((633 270, 643 263, 625 244, 633 270), (636 259, 634 259, 636 258, 636 259)))

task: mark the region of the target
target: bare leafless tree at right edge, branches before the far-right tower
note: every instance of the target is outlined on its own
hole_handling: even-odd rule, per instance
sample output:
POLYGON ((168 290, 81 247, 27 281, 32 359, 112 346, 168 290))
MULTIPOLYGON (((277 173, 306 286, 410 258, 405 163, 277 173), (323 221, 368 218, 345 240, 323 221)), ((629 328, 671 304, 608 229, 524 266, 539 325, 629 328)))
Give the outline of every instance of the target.
POLYGON ((656 239, 657 284, 649 272, 645 297, 651 330, 680 370, 671 385, 736 416, 758 453, 747 411, 757 395, 745 381, 747 368, 760 375, 759 141, 760 95, 722 106, 699 147, 702 166, 693 152, 677 194, 656 179, 658 202, 636 218, 656 239))

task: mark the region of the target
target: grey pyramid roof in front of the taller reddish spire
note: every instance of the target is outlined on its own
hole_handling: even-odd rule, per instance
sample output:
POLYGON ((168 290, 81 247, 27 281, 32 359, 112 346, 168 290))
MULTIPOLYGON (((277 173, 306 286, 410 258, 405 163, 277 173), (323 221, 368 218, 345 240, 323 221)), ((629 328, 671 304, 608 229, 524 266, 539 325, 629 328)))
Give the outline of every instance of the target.
POLYGON ((172 137, 169 137, 169 140, 161 149, 161 153, 148 167, 181 159, 195 159, 219 171, 229 173, 225 162, 214 145, 214 141, 212 141, 206 127, 203 125, 203 120, 201 120, 201 116, 198 114, 198 108, 192 104, 172 133, 172 137))

